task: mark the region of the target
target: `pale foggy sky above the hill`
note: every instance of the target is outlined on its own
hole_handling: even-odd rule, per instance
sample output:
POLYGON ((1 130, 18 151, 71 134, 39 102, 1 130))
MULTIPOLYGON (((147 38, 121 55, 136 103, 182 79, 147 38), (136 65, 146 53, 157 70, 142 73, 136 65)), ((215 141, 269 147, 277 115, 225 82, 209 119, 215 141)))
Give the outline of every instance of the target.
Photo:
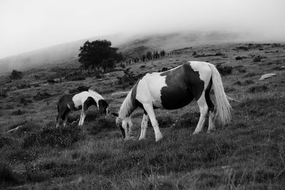
POLYGON ((252 32, 285 40, 284 0, 0 0, 0 58, 95 36, 252 32))

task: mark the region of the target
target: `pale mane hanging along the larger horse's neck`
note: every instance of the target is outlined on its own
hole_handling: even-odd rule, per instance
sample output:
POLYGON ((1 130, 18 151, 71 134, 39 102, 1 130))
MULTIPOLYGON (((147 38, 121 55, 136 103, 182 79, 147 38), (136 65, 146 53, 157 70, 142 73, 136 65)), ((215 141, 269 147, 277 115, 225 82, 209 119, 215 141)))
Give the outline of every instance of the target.
POLYGON ((123 104, 120 106, 119 117, 125 119, 129 117, 130 114, 135 110, 135 96, 137 95, 138 83, 136 83, 132 90, 128 93, 127 97, 123 101, 123 104))

